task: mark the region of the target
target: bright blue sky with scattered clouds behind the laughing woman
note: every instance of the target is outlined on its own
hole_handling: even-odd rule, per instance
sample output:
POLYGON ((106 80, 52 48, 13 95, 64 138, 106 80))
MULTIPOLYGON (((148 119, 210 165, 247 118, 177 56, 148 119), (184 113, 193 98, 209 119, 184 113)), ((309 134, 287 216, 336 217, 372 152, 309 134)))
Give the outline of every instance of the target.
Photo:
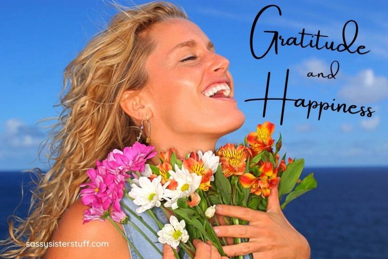
MULTIPOLYGON (((120 1, 131 5, 131 2, 120 1)), ((145 1, 134 1, 136 4, 145 1)), ((216 51, 230 60, 238 106, 246 122, 238 131, 220 139, 240 142, 265 120, 276 124, 274 137, 283 136, 283 152, 304 157, 307 166, 387 165, 388 137, 388 5, 381 1, 174 1, 182 6, 214 42, 216 51), (334 4, 335 3, 335 4, 334 4), (250 32, 256 14, 266 5, 281 8, 282 16, 269 9, 260 17, 254 47, 266 50, 271 34, 284 38, 307 33, 328 35, 328 41, 342 43, 342 30, 348 20, 358 23, 358 36, 351 49, 364 45, 368 54, 302 49, 279 46, 262 59, 250 51, 250 32), (308 72, 328 74, 337 60, 336 79, 307 77, 308 72), (317 110, 307 119, 307 109, 287 102, 280 125, 281 102, 268 101, 262 117, 268 71, 269 97, 281 98, 286 69, 289 69, 287 98, 346 103, 372 107, 372 117, 317 110)), ((47 168, 37 160, 39 143, 58 116, 57 103, 62 88, 62 72, 96 32, 104 28, 115 9, 98 0, 88 1, 1 1, 0 2, 0 170, 47 168)), ((348 41, 354 26, 347 29, 348 41)), ((44 154, 43 154, 44 161, 44 154)))

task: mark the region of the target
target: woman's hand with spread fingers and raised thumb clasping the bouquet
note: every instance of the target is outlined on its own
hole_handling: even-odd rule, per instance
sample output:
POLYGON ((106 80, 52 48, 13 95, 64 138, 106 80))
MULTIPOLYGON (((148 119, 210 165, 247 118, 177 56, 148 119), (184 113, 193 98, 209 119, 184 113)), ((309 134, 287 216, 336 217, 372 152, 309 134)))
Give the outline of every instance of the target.
POLYGON ((287 221, 281 211, 278 185, 271 189, 267 212, 240 206, 216 206, 218 215, 249 221, 249 225, 214 227, 218 237, 249 238, 246 243, 223 246, 226 255, 253 253, 254 258, 310 258, 310 245, 306 238, 287 221))

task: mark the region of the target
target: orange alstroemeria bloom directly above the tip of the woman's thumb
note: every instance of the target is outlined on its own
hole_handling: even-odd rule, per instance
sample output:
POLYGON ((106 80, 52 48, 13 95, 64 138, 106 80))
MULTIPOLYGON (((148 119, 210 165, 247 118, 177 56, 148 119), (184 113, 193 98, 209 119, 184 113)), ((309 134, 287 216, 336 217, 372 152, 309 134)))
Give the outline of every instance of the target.
POLYGON ((239 179, 240 184, 244 188, 251 188, 251 193, 262 197, 269 196, 270 189, 275 187, 277 183, 277 168, 273 169, 271 162, 264 162, 259 171, 259 177, 250 173, 242 175, 239 179))

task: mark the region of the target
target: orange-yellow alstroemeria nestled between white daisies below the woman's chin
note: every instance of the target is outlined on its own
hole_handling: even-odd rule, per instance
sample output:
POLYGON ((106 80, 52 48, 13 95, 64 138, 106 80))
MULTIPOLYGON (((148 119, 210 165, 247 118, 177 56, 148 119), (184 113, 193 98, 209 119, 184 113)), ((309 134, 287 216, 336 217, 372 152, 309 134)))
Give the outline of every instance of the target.
POLYGON ((199 156, 191 152, 187 159, 183 160, 182 166, 186 168, 190 174, 195 173, 198 176, 202 176, 201 185, 199 189, 207 191, 211 187, 210 178, 213 176, 213 170, 211 168, 205 168, 205 163, 199 156))

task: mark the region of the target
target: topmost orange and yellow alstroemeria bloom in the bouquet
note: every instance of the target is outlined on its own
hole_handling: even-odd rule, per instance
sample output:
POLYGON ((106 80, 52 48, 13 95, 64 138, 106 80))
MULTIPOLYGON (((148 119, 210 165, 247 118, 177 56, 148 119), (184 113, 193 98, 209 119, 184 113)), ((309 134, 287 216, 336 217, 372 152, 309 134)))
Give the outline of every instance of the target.
POLYGON ((275 124, 265 121, 257 125, 257 132, 251 132, 247 136, 248 144, 251 146, 253 155, 259 154, 263 150, 272 151, 274 140, 271 135, 275 130, 275 124))

